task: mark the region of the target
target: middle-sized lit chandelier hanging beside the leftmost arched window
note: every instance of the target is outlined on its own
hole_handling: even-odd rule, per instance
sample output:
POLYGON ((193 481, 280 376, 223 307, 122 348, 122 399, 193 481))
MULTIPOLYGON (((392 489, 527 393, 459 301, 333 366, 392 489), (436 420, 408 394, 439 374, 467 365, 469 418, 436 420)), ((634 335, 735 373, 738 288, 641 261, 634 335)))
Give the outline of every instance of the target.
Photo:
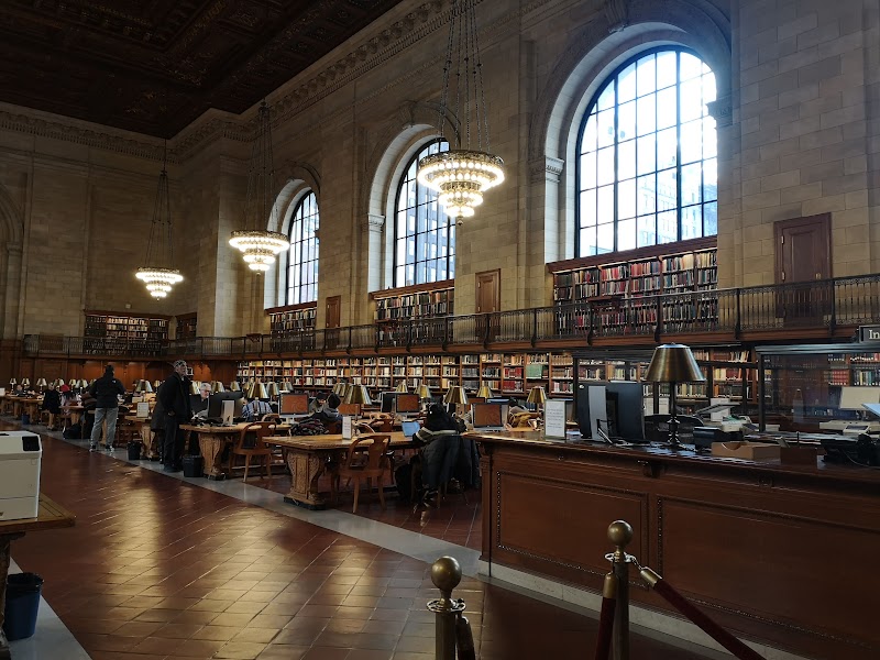
POLYGON ((248 173, 248 201, 244 207, 244 227, 233 231, 229 244, 240 250, 248 267, 265 273, 275 263, 275 256, 290 248, 283 233, 261 229, 268 222, 277 227, 274 185, 275 170, 272 165, 272 123, 266 101, 260 106, 256 140, 251 152, 251 169, 248 173))

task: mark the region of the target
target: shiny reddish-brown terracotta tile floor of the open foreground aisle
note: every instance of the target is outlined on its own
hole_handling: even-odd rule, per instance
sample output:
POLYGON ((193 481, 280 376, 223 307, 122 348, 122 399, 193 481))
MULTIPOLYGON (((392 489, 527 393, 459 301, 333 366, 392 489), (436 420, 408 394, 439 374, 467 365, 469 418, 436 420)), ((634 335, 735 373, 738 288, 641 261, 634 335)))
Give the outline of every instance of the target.
MULTIPOLYGON (((28 535, 13 558, 95 660, 433 660, 422 562, 46 436, 42 483, 77 525, 28 535)), ((593 653, 592 618, 477 580, 455 594, 484 660, 593 653)))

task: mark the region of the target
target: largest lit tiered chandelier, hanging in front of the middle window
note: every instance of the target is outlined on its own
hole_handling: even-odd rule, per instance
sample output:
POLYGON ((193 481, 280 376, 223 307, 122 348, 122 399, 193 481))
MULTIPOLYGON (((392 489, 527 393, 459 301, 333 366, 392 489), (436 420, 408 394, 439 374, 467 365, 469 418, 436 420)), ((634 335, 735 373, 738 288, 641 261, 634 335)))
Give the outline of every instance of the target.
POLYGON ((473 217, 474 207, 483 204, 483 193, 504 182, 504 161, 490 153, 488 117, 474 4, 475 0, 453 0, 443 65, 443 95, 437 131, 455 148, 425 156, 419 161, 418 170, 418 182, 437 190, 438 200, 447 215, 457 218, 459 224, 462 218, 473 217), (453 66, 454 142, 446 138, 449 77, 453 66), (475 133, 473 147, 472 128, 475 133))

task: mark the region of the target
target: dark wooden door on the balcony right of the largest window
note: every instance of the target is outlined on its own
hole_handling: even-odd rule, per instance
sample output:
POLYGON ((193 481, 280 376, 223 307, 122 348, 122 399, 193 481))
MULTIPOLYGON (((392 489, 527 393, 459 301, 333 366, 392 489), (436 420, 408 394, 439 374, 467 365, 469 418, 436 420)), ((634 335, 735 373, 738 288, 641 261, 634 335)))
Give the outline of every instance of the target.
POLYGON ((816 286, 832 277, 831 213, 782 220, 773 224, 776 279, 785 285, 777 296, 777 316, 785 324, 813 323, 831 312, 833 290, 816 286))

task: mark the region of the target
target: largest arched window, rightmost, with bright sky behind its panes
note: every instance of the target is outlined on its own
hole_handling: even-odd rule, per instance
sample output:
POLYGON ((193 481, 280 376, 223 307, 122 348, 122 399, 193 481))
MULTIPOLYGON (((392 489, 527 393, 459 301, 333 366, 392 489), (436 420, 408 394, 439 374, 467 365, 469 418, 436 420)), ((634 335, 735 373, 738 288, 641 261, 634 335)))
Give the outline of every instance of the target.
POLYGON ((600 88, 579 139, 578 256, 718 233, 714 100, 684 48, 640 53, 600 88))

